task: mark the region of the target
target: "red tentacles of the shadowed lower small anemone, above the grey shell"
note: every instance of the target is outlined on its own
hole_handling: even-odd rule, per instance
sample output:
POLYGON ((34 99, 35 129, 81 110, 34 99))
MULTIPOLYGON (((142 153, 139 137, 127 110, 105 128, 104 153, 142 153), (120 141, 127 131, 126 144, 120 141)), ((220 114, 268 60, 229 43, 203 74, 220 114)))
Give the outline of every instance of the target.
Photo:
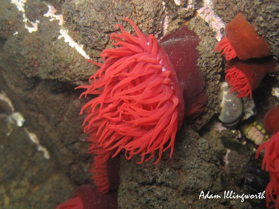
POLYGON ((225 73, 225 80, 231 87, 229 93, 238 93, 236 96, 237 98, 244 98, 250 94, 250 99, 252 99, 252 88, 243 72, 232 67, 226 70, 225 73))

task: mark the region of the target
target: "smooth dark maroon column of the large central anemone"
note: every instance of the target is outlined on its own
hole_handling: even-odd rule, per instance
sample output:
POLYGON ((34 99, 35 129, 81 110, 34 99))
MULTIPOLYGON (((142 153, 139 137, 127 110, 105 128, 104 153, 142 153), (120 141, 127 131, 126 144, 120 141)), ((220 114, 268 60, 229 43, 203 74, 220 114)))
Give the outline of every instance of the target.
POLYGON ((189 121, 205 109, 207 94, 205 80, 198 68, 198 35, 182 26, 162 38, 160 44, 167 52, 182 88, 185 102, 184 120, 189 121))

